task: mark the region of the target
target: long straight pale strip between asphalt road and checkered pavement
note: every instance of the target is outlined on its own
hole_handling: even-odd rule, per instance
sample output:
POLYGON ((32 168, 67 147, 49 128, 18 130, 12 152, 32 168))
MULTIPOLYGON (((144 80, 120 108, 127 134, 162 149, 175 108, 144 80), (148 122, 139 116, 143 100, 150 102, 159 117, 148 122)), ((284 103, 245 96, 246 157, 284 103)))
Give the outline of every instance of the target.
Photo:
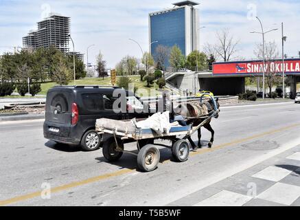
POLYGON ((249 157, 249 159, 242 162, 242 164, 235 164, 235 166, 227 168, 227 170, 223 170, 222 172, 214 173, 214 175, 211 175, 206 179, 194 181, 190 186, 188 186, 188 188, 182 188, 176 190, 176 192, 170 195, 164 195, 163 197, 159 197, 159 199, 155 199, 155 198, 151 199, 150 201, 148 201, 147 206, 167 206, 169 203, 172 203, 178 199, 191 195, 194 192, 197 192, 198 190, 202 190, 203 188, 216 184, 219 181, 227 179, 228 177, 231 177, 248 168, 251 168, 252 166, 260 164, 267 159, 270 159, 272 157, 275 157, 276 155, 284 153, 285 151, 288 151, 291 148, 298 146, 299 144, 300 144, 300 137, 280 146, 279 148, 274 149, 273 151, 269 151, 268 153, 265 153, 263 155, 259 155, 257 157, 249 157))

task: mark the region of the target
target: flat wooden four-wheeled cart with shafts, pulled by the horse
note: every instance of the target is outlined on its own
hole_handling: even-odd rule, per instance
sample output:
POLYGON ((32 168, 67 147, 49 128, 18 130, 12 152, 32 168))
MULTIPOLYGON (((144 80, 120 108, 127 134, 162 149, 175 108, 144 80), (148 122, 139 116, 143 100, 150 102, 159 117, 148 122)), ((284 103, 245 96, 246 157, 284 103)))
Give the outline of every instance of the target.
MULTIPOLYGON (((205 94, 207 95, 207 94, 205 94)), ((152 129, 140 129, 133 126, 130 120, 117 121, 109 119, 100 119, 96 122, 96 131, 100 135, 110 134, 111 137, 104 141, 103 155, 109 162, 116 162, 123 153, 130 153, 137 156, 137 165, 139 169, 150 172, 157 168, 160 161, 159 148, 154 145, 154 140, 172 141, 172 155, 177 162, 185 162, 189 157, 190 144, 187 138, 191 137, 201 126, 206 124, 211 118, 218 115, 219 110, 216 101, 211 97, 214 103, 214 110, 206 115, 205 119, 198 126, 171 126, 170 131, 157 133, 152 129), (132 153, 124 149, 124 143, 137 142, 139 153, 132 153)), ((202 98, 200 98, 202 102, 202 98)), ((166 146, 168 147, 168 146, 166 146)))

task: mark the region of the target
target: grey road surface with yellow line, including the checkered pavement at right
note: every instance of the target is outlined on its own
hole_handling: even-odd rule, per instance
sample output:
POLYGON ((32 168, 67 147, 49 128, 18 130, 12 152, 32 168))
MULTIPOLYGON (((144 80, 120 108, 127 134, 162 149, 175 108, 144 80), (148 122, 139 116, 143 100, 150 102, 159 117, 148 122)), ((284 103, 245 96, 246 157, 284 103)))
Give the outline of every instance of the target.
POLYGON ((0 205, 300 206, 299 112, 290 102, 222 108, 213 148, 203 129, 203 149, 176 163, 161 148, 151 173, 134 155, 110 164, 102 151, 47 141, 42 120, 0 122, 0 205))

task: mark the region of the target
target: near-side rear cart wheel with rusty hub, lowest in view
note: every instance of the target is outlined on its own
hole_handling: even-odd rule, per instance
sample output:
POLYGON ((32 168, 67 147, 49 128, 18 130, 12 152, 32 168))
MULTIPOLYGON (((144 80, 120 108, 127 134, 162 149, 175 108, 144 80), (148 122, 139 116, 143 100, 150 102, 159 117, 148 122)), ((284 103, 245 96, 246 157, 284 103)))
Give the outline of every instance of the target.
POLYGON ((157 168, 161 154, 159 148, 152 144, 148 144, 141 148, 137 155, 137 166, 144 172, 150 172, 157 168))

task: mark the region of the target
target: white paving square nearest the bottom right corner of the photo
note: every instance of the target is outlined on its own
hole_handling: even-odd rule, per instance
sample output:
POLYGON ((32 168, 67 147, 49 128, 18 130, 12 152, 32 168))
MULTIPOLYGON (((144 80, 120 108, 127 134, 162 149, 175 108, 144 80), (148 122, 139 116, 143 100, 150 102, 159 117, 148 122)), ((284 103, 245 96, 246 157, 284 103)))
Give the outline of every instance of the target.
POLYGON ((259 199, 281 203, 286 206, 292 205, 300 197, 300 187, 289 184, 277 183, 257 196, 259 199))

